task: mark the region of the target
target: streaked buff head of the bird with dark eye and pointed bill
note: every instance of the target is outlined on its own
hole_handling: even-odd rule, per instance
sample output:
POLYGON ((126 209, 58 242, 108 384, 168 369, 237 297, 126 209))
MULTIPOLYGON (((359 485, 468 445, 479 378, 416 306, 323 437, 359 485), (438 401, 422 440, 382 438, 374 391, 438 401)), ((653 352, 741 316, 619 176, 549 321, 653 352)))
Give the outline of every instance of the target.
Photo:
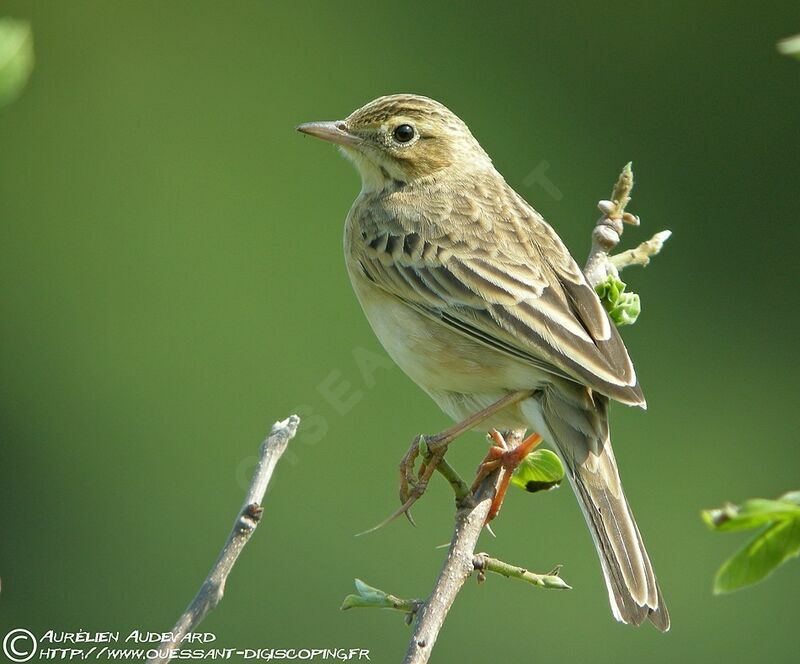
POLYGON ((435 176, 471 172, 491 160, 445 106, 419 95, 379 97, 335 122, 308 122, 297 131, 335 143, 356 165, 365 191, 435 176))

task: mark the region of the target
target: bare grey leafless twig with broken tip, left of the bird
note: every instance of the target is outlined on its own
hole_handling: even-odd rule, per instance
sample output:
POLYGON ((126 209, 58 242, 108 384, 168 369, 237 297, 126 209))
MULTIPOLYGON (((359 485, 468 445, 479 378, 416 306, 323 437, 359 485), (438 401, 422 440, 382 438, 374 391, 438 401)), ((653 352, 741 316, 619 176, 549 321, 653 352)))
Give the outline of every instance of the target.
POLYGON ((292 415, 283 422, 276 422, 272 425, 269 436, 261 443, 258 465, 225 546, 222 547, 219 557, 192 603, 189 604, 186 611, 178 619, 178 622, 175 623, 175 627, 172 628, 170 639, 165 639, 161 642, 158 656, 148 660, 148 664, 168 662, 171 653, 180 649, 183 638, 197 629, 203 618, 222 599, 228 575, 231 573, 239 554, 242 552, 244 545, 250 540, 261 519, 261 514, 264 511, 261 507, 261 502, 264 500, 264 493, 272 479, 275 466, 286 451, 289 441, 297 433, 299 424, 300 418, 297 415, 292 415))

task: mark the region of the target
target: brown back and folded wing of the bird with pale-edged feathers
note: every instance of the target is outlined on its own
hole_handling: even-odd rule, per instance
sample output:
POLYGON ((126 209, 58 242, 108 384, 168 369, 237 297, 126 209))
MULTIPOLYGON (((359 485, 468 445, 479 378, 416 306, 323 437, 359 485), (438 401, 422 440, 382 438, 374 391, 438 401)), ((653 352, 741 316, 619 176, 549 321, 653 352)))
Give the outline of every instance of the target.
POLYGON ((619 333, 533 208, 498 176, 426 193, 424 209, 403 190, 360 207, 355 252, 369 279, 487 346, 644 404, 619 333))

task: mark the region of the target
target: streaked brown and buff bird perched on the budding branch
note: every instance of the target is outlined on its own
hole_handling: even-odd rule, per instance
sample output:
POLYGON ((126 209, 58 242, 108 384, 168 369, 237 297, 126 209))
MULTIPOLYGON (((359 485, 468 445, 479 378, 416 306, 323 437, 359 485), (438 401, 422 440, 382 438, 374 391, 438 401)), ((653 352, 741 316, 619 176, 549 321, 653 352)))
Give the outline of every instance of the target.
POLYGON ((361 176, 345 221, 347 272, 396 364, 459 422, 527 398, 487 427, 532 429, 562 458, 613 616, 667 631, 669 613, 623 493, 610 400, 646 408, 627 349, 555 230, 495 169, 468 126, 415 94, 297 130, 361 176))

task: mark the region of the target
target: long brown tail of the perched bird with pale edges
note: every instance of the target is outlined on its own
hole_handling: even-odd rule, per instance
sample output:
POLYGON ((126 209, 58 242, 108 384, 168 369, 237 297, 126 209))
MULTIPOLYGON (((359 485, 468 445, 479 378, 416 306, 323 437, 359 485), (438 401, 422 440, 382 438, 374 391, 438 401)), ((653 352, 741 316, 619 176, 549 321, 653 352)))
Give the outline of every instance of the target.
MULTIPOLYGON (((528 410, 528 409, 526 409, 528 410)), ((614 617, 640 625, 649 619, 669 629, 669 613, 639 528, 622 491, 608 431, 608 401, 590 392, 549 390, 539 400, 534 421, 567 467, 592 533, 614 617)))

